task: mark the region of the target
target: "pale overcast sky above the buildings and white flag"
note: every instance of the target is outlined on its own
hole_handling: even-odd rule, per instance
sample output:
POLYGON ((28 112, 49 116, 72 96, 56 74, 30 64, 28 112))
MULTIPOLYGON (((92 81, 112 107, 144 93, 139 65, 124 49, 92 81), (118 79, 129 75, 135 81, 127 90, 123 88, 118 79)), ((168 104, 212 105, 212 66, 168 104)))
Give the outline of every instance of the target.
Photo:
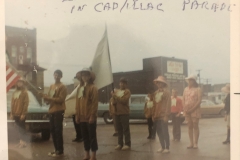
MULTIPOLYGON (((37 61, 47 69, 45 85, 53 83, 56 69, 63 71, 63 82, 70 84, 77 71, 90 66, 105 23, 113 72, 141 70, 143 58, 166 56, 187 59, 189 74, 201 69, 201 77, 212 84, 230 81, 228 11, 191 10, 190 5, 183 11, 183 0, 139 0, 138 6, 152 2, 154 9, 99 13, 94 5, 100 2, 107 1, 5 1, 6 25, 37 29, 37 61), (163 11, 156 10, 159 3, 163 11), (83 11, 77 11, 84 4, 83 11)), ((119 7, 124 2, 118 1, 119 7)), ((132 1, 128 2, 130 6, 132 1)))

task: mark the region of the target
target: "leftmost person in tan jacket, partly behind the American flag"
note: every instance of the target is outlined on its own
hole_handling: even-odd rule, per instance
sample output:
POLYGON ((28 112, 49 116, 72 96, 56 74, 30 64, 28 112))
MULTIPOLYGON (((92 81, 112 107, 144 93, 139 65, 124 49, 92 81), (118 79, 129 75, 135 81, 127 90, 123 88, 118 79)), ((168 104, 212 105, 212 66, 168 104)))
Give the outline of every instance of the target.
POLYGON ((27 146, 25 119, 28 111, 29 98, 27 89, 25 88, 25 83, 26 81, 24 78, 20 78, 17 81, 16 90, 13 92, 11 101, 10 119, 15 120, 15 123, 18 126, 20 142, 16 147, 19 148, 27 146))

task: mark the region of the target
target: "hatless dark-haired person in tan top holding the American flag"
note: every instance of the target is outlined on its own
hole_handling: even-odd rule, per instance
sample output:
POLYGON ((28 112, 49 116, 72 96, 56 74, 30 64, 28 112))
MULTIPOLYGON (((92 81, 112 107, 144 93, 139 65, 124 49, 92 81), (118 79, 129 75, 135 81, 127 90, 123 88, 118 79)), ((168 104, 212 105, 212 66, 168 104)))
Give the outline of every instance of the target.
POLYGON ((67 88, 61 82, 62 71, 54 72, 55 83, 49 88, 48 94, 43 94, 42 97, 49 107, 50 130, 52 134, 55 150, 49 152, 48 156, 59 157, 64 154, 63 148, 63 116, 66 109, 65 99, 67 96, 67 88))

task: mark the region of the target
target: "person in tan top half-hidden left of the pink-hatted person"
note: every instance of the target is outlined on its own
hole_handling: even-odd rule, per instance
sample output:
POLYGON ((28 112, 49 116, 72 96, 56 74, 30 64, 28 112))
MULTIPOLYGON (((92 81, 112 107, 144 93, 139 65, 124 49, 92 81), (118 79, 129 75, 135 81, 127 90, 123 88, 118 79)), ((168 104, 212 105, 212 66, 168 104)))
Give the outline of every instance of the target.
POLYGON ((153 121, 152 121, 152 108, 153 108, 153 96, 148 94, 147 102, 144 107, 144 114, 148 122, 148 137, 147 139, 152 139, 153 137, 153 121))

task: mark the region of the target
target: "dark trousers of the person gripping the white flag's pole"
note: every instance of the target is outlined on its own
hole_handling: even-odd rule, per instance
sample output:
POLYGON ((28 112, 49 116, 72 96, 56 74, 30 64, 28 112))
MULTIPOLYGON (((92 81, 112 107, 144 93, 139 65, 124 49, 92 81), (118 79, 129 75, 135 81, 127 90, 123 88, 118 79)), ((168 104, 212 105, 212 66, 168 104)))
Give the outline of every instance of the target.
POLYGON ((116 126, 118 130, 118 144, 123 146, 123 135, 125 137, 125 145, 131 146, 131 136, 129 128, 129 115, 115 115, 116 126))

